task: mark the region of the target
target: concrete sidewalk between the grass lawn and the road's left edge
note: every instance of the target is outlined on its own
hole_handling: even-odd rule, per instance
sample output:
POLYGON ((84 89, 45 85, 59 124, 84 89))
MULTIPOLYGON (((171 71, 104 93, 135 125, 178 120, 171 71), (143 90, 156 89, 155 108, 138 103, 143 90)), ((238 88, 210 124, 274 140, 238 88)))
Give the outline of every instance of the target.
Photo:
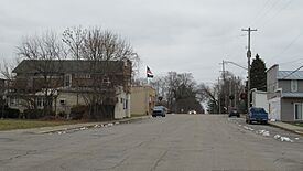
POLYGON ((151 116, 141 116, 141 117, 131 117, 131 118, 109 120, 109 121, 83 122, 83 124, 62 125, 62 126, 55 126, 55 127, 30 128, 30 129, 15 129, 15 130, 2 131, 2 132, 51 133, 51 132, 67 131, 67 130, 80 129, 80 128, 86 129, 86 128, 91 128, 95 126, 101 126, 101 125, 108 125, 108 124, 117 125, 117 124, 148 119, 151 116))

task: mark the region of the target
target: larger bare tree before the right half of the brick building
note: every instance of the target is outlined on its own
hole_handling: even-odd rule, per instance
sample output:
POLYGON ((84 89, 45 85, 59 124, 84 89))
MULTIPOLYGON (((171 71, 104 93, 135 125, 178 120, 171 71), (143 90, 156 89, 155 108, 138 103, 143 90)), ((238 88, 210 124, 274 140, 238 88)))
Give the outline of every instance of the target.
POLYGON ((82 90, 82 97, 89 106, 90 116, 96 116, 107 99, 116 97, 116 89, 122 86, 125 92, 130 92, 130 78, 132 74, 123 73, 120 67, 112 65, 116 62, 123 62, 125 65, 138 64, 139 56, 133 52, 131 45, 111 31, 102 31, 100 28, 82 30, 66 30, 63 34, 64 43, 69 52, 77 60, 90 63, 90 75, 93 83, 90 90, 82 90), (119 75, 119 72, 120 73, 119 75), (119 76, 118 76, 119 75, 119 76), (101 107, 100 107, 101 106, 101 107))

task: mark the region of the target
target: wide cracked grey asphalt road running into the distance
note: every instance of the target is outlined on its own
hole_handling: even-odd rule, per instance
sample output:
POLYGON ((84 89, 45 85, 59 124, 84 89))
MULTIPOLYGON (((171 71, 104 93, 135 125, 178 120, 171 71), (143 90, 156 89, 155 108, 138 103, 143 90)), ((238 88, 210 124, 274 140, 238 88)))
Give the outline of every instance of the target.
POLYGON ((169 115, 66 133, 9 131, 0 132, 0 170, 302 171, 303 137, 210 115, 169 115))

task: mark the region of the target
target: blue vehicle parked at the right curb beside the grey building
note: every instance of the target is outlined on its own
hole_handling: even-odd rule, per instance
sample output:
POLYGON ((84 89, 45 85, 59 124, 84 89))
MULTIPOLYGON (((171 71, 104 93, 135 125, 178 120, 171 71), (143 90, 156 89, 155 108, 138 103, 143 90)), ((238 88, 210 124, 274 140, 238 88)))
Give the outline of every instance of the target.
POLYGON ((268 113, 264 110, 264 108, 261 108, 261 107, 249 108, 249 113, 246 116, 246 122, 252 124, 252 121, 257 121, 260 124, 268 124, 268 113))

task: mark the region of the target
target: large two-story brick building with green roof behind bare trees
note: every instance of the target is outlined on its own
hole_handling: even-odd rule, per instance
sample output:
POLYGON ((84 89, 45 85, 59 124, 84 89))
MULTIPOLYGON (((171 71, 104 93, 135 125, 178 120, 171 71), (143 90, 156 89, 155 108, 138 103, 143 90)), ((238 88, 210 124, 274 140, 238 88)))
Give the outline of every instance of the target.
POLYGON ((12 71, 9 107, 22 113, 48 104, 68 115, 74 106, 98 105, 106 107, 100 115, 130 117, 131 70, 130 61, 24 60, 12 71))

